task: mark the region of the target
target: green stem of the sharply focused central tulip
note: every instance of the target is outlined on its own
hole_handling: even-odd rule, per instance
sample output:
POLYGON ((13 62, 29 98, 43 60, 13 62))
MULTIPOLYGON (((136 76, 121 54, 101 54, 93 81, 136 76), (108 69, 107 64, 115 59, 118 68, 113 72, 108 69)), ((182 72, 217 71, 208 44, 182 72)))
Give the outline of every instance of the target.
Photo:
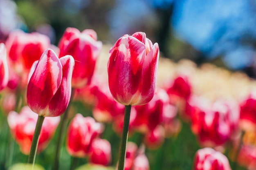
POLYGON ((125 106, 125 110, 124 110, 124 126, 123 126, 122 138, 121 138, 118 170, 124 170, 131 107, 132 107, 131 105, 125 106))

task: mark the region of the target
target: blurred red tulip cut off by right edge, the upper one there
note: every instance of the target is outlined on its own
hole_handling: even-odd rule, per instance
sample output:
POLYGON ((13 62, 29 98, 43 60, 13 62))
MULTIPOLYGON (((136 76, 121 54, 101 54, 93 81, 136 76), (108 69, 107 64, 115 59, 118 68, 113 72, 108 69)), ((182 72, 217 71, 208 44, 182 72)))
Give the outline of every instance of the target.
POLYGON ((240 104, 239 125, 243 130, 256 131, 256 95, 254 93, 240 104))

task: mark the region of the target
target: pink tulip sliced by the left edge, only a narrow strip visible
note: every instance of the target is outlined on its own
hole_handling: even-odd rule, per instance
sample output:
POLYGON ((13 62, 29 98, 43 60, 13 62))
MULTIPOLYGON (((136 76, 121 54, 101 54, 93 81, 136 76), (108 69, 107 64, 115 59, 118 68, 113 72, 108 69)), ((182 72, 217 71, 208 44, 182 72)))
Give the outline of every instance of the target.
POLYGON ((0 43, 0 90, 7 86, 9 79, 9 71, 7 64, 6 47, 0 43))

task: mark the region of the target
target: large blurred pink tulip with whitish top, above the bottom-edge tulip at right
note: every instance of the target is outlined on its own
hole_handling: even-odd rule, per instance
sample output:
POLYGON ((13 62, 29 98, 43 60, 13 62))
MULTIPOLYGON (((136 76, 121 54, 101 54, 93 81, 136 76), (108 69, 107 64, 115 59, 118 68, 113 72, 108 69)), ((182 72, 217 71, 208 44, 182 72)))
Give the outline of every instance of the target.
MULTIPOLYGON (((201 103, 202 104, 202 103, 201 103)), ((225 144, 238 132, 239 109, 236 103, 216 101, 214 104, 195 105, 191 114, 192 131, 203 146, 225 144), (206 106, 206 107, 205 107, 206 106)))

